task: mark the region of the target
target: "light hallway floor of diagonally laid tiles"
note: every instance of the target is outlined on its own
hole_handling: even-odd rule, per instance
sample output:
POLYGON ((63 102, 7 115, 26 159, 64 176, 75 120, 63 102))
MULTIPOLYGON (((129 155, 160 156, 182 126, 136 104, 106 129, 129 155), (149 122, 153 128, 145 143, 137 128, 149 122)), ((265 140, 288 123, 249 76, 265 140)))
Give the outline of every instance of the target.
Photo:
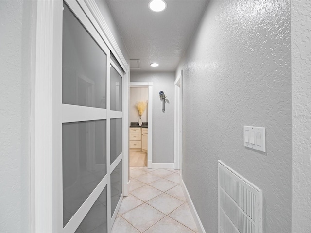
POLYGON ((196 233, 197 228, 172 169, 130 168, 130 192, 124 197, 112 233, 196 233))

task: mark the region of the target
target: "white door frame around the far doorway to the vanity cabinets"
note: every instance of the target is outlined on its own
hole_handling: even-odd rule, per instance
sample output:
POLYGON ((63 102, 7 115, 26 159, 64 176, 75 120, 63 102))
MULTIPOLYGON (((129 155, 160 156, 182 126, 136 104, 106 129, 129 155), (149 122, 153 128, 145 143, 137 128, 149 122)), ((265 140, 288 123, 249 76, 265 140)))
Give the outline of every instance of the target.
MULTIPOLYGON (((152 86, 153 86, 152 82, 130 82, 130 87, 148 87, 148 155, 147 155, 148 162, 147 162, 147 168, 153 168, 152 167, 152 86)), ((129 96, 130 95, 128 95, 128 97, 129 96)), ((129 167, 129 164, 127 167, 129 167)))

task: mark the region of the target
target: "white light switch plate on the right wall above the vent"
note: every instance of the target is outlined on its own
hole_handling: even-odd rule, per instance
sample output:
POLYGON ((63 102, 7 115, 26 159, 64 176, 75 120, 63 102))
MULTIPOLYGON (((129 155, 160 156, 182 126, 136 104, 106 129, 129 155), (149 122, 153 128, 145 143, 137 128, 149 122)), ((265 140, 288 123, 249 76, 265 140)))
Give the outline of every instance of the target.
POLYGON ((244 126, 244 146, 252 148, 254 150, 259 150, 266 152, 266 137, 264 127, 254 127, 254 126, 244 126), (254 135, 254 141, 250 138, 246 140, 250 135, 254 135), (260 136, 260 138, 259 138, 260 136), (252 144, 253 142, 254 144, 252 144))

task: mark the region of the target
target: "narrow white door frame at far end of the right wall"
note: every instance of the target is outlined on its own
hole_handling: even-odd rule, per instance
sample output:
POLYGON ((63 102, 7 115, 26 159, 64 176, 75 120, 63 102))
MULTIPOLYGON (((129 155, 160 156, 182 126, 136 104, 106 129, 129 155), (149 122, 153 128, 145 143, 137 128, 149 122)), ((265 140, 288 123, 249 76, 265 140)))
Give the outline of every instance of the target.
POLYGON ((175 130, 174 130, 174 169, 182 170, 182 120, 183 120, 183 71, 181 70, 180 75, 177 76, 174 89, 175 89, 175 130))

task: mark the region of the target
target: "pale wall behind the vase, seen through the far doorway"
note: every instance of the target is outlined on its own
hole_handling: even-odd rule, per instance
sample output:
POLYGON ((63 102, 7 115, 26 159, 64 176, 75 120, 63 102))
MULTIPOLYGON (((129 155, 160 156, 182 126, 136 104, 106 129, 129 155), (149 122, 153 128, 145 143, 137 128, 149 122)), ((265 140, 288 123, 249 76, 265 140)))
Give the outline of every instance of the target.
POLYGON ((140 116, 135 106, 137 102, 147 102, 147 107, 144 113, 141 115, 142 122, 148 122, 148 87, 131 87, 130 88, 130 122, 138 122, 140 116))

